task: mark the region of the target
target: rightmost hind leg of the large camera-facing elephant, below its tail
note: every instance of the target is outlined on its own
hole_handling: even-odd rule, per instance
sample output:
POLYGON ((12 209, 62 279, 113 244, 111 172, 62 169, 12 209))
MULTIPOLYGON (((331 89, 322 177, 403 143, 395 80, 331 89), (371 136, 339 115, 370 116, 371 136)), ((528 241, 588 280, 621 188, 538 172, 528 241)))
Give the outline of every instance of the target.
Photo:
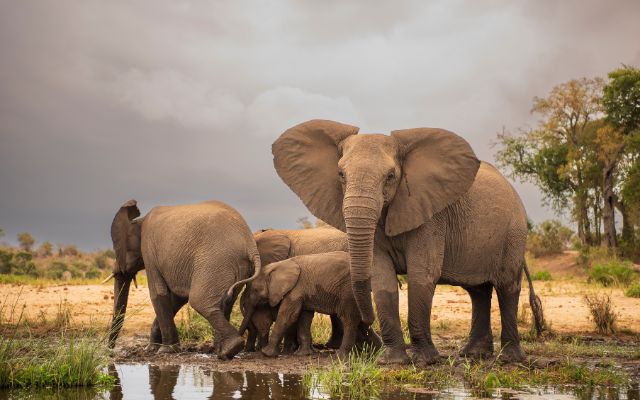
POLYGON ((520 362, 524 360, 524 352, 520 347, 518 334, 518 301, 520 300, 520 285, 496 287, 498 304, 500 305, 500 320, 502 333, 501 359, 506 362, 520 362))

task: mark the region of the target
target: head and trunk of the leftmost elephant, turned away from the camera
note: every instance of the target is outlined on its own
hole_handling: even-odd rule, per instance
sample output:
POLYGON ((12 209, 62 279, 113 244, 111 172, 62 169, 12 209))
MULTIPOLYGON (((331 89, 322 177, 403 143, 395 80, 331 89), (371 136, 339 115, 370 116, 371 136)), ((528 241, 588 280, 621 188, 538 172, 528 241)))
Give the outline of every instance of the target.
POLYGON ((135 200, 124 203, 116 213, 111 224, 111 240, 116 253, 116 263, 111 277, 113 285, 113 319, 109 332, 109 346, 115 346, 116 339, 122 328, 124 314, 129 299, 129 286, 138 271, 144 269, 140 250, 140 232, 142 220, 135 220, 140 216, 140 210, 135 200))

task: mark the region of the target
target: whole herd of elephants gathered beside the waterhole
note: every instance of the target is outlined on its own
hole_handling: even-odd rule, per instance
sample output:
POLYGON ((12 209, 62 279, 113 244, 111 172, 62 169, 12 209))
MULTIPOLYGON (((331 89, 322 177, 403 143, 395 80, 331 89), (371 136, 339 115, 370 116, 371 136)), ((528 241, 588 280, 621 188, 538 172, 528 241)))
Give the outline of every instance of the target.
MULTIPOLYGON (((495 289, 501 358, 524 358, 517 312, 522 272, 529 278, 526 212, 509 182, 480 162, 463 138, 432 128, 358 135, 354 126, 312 120, 285 131, 272 153, 282 180, 333 228, 252 234, 237 211, 218 201, 155 207, 140 217, 129 200, 111 227, 111 346, 131 281, 145 269, 156 313, 148 351, 177 350, 174 317, 188 302, 214 329, 221 359, 243 348, 266 356, 276 356, 281 346, 310 354, 318 312, 331 316, 327 346, 339 355, 368 343, 383 347, 381 363, 424 366, 439 358, 430 314, 440 283, 461 286, 471 297, 462 355, 493 353, 495 289), (400 325, 398 275, 408 282, 411 358, 400 325), (241 291, 244 318, 236 329, 229 319, 241 291), (381 339, 371 327, 372 295, 381 339)), ((530 279, 529 296, 539 320, 530 279)))

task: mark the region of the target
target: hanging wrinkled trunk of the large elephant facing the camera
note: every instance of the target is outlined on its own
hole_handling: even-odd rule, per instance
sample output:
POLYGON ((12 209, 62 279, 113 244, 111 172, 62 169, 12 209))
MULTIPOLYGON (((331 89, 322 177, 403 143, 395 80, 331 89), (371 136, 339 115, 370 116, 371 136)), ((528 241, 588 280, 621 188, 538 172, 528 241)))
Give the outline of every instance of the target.
POLYGON ((347 228, 351 272, 351 288, 362 322, 371 325, 375 319, 371 302, 371 268, 373 242, 379 218, 377 202, 368 197, 345 197, 343 214, 347 228))

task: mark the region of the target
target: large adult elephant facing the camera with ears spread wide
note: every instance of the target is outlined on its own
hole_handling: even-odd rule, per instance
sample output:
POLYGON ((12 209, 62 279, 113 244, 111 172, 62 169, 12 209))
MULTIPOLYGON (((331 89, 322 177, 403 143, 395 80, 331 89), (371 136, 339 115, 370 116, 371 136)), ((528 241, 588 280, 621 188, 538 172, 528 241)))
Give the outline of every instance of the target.
POLYGON ((438 283, 462 286, 471 295, 471 334, 462 354, 493 352, 495 288, 502 357, 522 360, 516 317, 527 219, 515 190, 452 132, 357 133, 354 126, 312 120, 284 132, 272 152, 278 175, 309 211, 346 231, 352 289, 367 324, 374 320, 373 290, 385 344, 381 361, 409 361, 396 274, 408 278, 415 363, 430 364, 438 357, 430 329, 438 283))

